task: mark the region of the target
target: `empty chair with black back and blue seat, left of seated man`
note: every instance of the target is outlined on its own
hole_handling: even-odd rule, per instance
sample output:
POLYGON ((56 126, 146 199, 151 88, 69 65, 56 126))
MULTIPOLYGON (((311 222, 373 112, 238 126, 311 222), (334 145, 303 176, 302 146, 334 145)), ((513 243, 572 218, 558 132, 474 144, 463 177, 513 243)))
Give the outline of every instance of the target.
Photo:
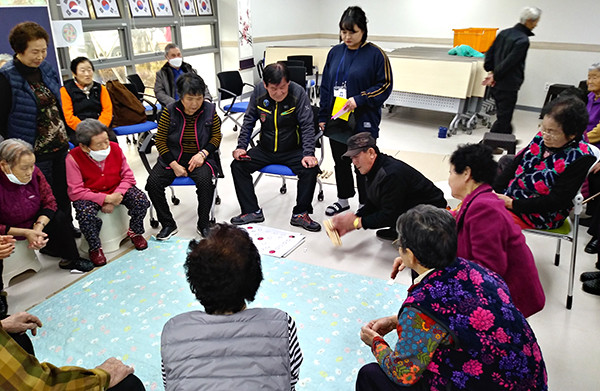
POLYGON ((248 102, 242 102, 242 95, 244 94, 244 87, 248 86, 254 89, 252 84, 244 83, 242 76, 238 71, 226 71, 217 73, 219 84, 221 85, 218 90, 218 103, 219 109, 224 113, 225 119, 223 122, 231 118, 235 123, 233 131, 237 131, 238 126, 241 128, 242 124, 239 119, 244 116, 246 109, 248 108, 248 102), (231 103, 224 104, 223 101, 231 99, 231 103), (236 102, 237 101, 237 102, 236 102), (237 114, 234 116, 234 114, 237 114))

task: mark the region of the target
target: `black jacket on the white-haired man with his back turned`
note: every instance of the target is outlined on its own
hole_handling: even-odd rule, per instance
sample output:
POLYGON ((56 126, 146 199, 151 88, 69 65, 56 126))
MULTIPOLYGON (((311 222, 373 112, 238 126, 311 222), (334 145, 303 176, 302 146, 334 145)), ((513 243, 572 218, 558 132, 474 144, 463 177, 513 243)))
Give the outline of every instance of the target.
POLYGON ((494 72, 495 88, 517 91, 525 78, 525 58, 529 49, 529 37, 534 35, 525 25, 500 31, 485 54, 483 67, 494 72))

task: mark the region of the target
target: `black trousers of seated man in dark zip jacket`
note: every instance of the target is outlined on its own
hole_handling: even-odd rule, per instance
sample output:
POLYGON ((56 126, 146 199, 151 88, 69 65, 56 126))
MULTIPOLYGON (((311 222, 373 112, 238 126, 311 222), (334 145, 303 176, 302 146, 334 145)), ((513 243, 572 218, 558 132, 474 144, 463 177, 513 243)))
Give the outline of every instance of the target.
POLYGON ((258 199, 252 184, 252 173, 269 164, 282 164, 288 166, 298 176, 296 191, 296 206, 293 213, 312 213, 312 199, 317 185, 319 168, 306 168, 302 165, 302 150, 297 149, 289 152, 268 152, 260 147, 248 151, 251 160, 234 160, 231 162, 231 175, 235 185, 242 214, 256 212, 258 199))

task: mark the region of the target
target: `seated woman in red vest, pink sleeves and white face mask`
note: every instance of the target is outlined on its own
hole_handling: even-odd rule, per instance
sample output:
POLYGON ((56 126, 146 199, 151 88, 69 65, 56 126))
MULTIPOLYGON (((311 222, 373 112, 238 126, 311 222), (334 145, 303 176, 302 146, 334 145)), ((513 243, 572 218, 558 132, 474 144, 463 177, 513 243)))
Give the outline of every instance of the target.
POLYGON ((135 186, 133 171, 119 144, 109 141, 108 128, 96 119, 81 121, 76 134, 79 146, 67 156, 67 183, 79 228, 90 246, 90 260, 96 266, 106 264, 98 212, 112 213, 120 204, 131 217, 127 236, 137 250, 146 249, 144 217, 150 202, 135 186))

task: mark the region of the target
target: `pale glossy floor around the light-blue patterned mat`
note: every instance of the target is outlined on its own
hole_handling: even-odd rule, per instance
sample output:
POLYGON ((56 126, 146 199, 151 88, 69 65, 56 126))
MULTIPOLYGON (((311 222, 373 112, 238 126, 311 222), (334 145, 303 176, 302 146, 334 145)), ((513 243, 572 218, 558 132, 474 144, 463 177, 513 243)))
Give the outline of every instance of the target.
MULTIPOLYGON (((438 139, 438 126, 447 126, 450 120, 451 116, 448 114, 396 108, 392 113, 385 112, 383 115, 379 145, 396 157, 405 159, 430 179, 445 181, 449 154, 459 144, 478 142, 486 130, 480 127, 472 135, 459 133, 451 138, 438 139)), ((524 111, 515 113, 513 124, 517 138, 522 140, 521 145, 531 139, 537 130, 538 122, 537 113, 524 111)), ((237 133, 232 131, 231 121, 224 124, 223 133, 221 147, 223 166, 226 174, 229 174, 230 153, 237 139, 237 133)), ((135 149, 125 144, 124 140, 121 140, 121 145, 136 173, 140 187, 143 188, 147 174, 135 149)), ((323 167, 332 167, 330 158, 326 159, 323 167)), ((257 186, 257 195, 266 218, 264 224, 296 231, 298 229, 289 224, 295 200, 295 182, 289 182, 286 195, 279 193, 279 186, 280 180, 272 177, 262 179, 257 186)), ((229 221, 232 216, 239 213, 231 175, 219 181, 218 190, 223 202, 216 209, 217 220, 229 221)), ((324 202, 316 201, 315 197, 313 218, 317 221, 325 217, 326 206, 336 200, 333 185, 326 183, 324 191, 324 202)), ((177 194, 182 201, 180 205, 172 207, 172 210, 179 225, 179 236, 195 237, 195 193, 191 188, 178 188, 177 194)), ((352 208, 356 208, 358 201, 352 200, 351 205, 352 208)), ((150 228, 149 224, 146 226, 147 235, 158 232, 157 229, 150 228)), ((350 233, 343 238, 344 245, 341 248, 334 248, 324 232, 302 232, 306 234, 306 241, 290 254, 289 258, 332 269, 382 279, 388 278, 395 251, 389 243, 376 239, 374 232, 350 233)), ((583 252, 583 247, 588 240, 589 236, 584 230, 578 245, 577 276, 583 271, 592 270, 596 261, 595 256, 583 252)), ((567 260, 570 245, 563 245, 563 263, 560 267, 555 267, 553 241, 528 235, 527 242, 535 255, 547 297, 544 310, 532 316, 529 321, 546 359, 550 390, 600 390, 600 373, 597 370, 600 363, 600 297, 584 293, 581 291, 581 284, 576 283, 573 309, 566 310, 567 260)), ((124 251, 131 251, 131 248, 130 243, 123 242, 119 251, 107 255, 114 259, 124 251)), ((56 259, 44 256, 41 258, 42 270, 35 274, 19 276, 11 281, 7 289, 11 312, 24 310, 40 303, 54 292, 80 278, 80 275, 59 269, 56 259)), ((409 284, 409 274, 404 272, 398 281, 409 284)))

